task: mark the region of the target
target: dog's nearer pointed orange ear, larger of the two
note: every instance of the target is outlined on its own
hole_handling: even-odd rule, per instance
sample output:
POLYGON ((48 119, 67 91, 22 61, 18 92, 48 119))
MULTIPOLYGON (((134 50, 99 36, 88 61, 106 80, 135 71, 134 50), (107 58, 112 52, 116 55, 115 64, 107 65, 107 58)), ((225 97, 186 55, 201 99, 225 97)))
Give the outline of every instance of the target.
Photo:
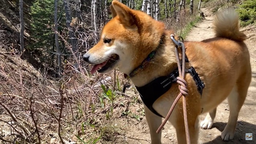
POLYGON ((110 6, 110 9, 113 9, 113 11, 115 11, 115 15, 118 15, 118 19, 122 24, 125 24, 127 26, 132 26, 133 24, 135 24, 135 19, 132 16, 132 11, 125 4, 122 4, 117 0, 113 0, 112 8, 110 6))

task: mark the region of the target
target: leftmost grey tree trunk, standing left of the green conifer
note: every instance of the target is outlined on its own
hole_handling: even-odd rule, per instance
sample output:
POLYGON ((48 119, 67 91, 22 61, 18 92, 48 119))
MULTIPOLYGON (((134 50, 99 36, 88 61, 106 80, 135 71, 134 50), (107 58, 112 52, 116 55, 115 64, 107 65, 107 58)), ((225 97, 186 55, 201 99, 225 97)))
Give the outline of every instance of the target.
POLYGON ((23 19, 23 0, 19 1, 20 15, 20 53, 24 51, 24 19, 23 19))

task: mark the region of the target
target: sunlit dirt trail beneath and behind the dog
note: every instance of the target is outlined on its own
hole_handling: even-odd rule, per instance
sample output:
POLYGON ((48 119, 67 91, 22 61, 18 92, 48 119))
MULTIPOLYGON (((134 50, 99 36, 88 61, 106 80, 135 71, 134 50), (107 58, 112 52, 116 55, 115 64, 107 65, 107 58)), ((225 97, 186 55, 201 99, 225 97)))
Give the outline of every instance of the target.
MULTIPOLYGON (((202 41, 203 39, 214 37, 214 32, 212 29, 213 15, 210 14, 210 10, 203 8, 202 11, 207 15, 205 20, 197 24, 191 30, 186 40, 189 41, 202 41)), ((246 34, 249 32, 245 32, 246 34)), ((252 71, 256 72, 256 53, 255 47, 256 42, 252 40, 246 40, 250 54, 251 54, 251 64, 252 71)), ((211 129, 200 129, 199 131, 199 143, 200 144, 240 144, 256 143, 256 79, 253 76, 252 83, 248 91, 248 96, 238 117, 236 132, 234 139, 229 142, 224 142, 221 140, 221 132, 224 130, 226 123, 229 118, 229 106, 227 100, 223 101, 221 105, 217 107, 217 114, 214 120, 214 125, 211 129), (245 140, 245 133, 253 133, 253 140, 245 140)), ((130 107, 131 109, 143 109, 142 105, 135 105, 130 107)), ((200 122, 203 121, 206 114, 200 116, 200 122)), ((113 121, 112 121, 113 122, 113 121)), ((143 117, 140 122, 136 120, 121 120, 116 119, 114 124, 121 125, 120 128, 124 130, 124 135, 120 136, 114 143, 118 144, 150 144, 150 133, 147 126, 146 118, 143 117)), ((173 144, 177 143, 176 132, 173 126, 167 122, 162 131, 162 143, 163 144, 173 144)))

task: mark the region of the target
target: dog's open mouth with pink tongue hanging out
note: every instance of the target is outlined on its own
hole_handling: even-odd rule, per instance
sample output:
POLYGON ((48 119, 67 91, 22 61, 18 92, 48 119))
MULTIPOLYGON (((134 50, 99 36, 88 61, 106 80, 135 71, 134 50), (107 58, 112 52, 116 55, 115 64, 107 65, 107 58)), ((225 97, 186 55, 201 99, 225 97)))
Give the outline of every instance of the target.
POLYGON ((96 71, 99 73, 102 73, 107 69, 112 68, 117 63, 118 60, 119 60, 119 56, 117 54, 112 54, 112 56, 109 57, 108 60, 100 64, 94 65, 93 68, 91 69, 91 74, 95 73, 96 71))

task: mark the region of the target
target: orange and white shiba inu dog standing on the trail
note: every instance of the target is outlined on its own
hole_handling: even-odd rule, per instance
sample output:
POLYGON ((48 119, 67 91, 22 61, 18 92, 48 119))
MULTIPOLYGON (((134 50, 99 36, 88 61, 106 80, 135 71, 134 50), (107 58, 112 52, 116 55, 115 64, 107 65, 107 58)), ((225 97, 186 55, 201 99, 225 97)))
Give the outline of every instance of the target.
MULTIPOLYGON (((112 1, 110 9, 113 19, 103 27, 99 42, 83 55, 86 62, 94 65, 91 73, 108 73, 118 68, 130 76, 136 87, 143 87, 177 69, 176 45, 170 39, 174 30, 165 29, 163 22, 116 0, 112 1)), ((205 86, 201 95, 191 74, 185 74, 189 91, 187 117, 193 144, 198 143, 198 116, 207 113, 200 127, 211 128, 217 106, 226 98, 230 115, 221 138, 225 141, 233 139, 238 113, 251 83, 250 56, 243 42, 246 35, 239 30, 238 14, 231 9, 224 10, 216 14, 213 24, 216 37, 201 42, 184 41, 189 59, 185 68, 193 67, 205 86)), ((155 112, 144 105, 152 144, 161 144, 161 132, 156 131, 178 93, 178 84, 173 83, 169 90, 152 102, 155 112)), ((144 95, 144 99, 149 101, 151 95, 144 95)), ((178 143, 185 144, 181 100, 174 107, 169 121, 176 128, 178 143)))

